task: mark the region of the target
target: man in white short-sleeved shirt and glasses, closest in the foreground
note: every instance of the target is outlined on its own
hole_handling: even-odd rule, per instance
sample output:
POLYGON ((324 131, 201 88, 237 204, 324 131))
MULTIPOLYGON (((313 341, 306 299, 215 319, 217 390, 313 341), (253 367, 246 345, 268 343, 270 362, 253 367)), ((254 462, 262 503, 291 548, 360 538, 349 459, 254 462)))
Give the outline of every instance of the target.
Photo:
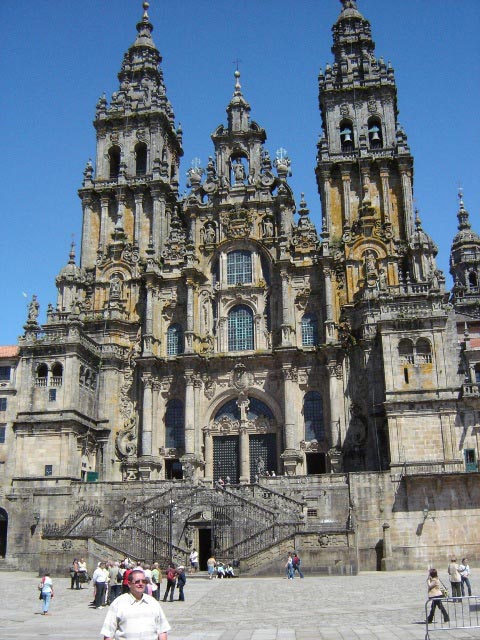
POLYGON ((130 593, 113 601, 100 631, 104 640, 167 640, 171 629, 160 604, 144 593, 145 572, 135 567, 128 577, 130 593))

